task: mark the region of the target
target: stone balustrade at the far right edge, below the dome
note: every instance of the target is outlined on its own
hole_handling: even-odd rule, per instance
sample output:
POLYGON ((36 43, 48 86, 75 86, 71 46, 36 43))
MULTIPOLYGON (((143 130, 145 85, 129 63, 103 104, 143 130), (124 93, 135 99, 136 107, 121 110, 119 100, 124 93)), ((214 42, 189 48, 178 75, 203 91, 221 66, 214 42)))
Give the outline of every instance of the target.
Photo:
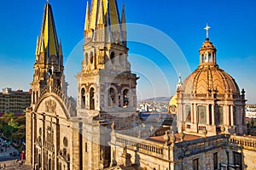
POLYGON ((242 146, 247 150, 256 150, 256 138, 244 136, 230 136, 230 144, 242 146))

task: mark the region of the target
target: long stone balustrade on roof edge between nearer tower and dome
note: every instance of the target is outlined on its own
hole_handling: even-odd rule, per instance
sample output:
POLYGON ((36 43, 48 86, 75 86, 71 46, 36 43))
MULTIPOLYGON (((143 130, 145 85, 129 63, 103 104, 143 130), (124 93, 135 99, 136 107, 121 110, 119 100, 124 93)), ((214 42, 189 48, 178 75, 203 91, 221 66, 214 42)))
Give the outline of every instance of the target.
POLYGON ((140 153, 157 156, 164 158, 165 155, 165 145, 157 143, 148 139, 138 139, 136 137, 127 136, 120 133, 111 134, 112 144, 119 145, 120 147, 127 147, 130 150, 137 150, 140 153))

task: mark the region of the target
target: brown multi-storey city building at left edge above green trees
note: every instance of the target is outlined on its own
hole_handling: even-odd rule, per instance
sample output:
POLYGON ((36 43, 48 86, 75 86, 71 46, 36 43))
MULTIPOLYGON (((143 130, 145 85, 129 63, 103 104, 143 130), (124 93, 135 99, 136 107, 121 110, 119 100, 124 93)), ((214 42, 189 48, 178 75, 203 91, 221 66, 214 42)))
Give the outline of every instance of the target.
POLYGON ((11 88, 3 88, 0 93, 0 114, 22 114, 30 104, 30 92, 23 92, 23 90, 12 91, 11 88))

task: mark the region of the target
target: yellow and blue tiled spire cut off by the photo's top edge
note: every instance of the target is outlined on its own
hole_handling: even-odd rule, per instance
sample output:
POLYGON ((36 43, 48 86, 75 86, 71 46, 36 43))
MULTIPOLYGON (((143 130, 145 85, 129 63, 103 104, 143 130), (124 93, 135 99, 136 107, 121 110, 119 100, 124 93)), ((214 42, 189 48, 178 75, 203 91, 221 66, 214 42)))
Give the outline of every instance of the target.
POLYGON ((116 0, 92 0, 90 10, 87 1, 84 37, 86 42, 118 42, 126 46, 125 4, 119 17, 116 0), (97 38, 97 31, 103 31, 104 37, 97 38))

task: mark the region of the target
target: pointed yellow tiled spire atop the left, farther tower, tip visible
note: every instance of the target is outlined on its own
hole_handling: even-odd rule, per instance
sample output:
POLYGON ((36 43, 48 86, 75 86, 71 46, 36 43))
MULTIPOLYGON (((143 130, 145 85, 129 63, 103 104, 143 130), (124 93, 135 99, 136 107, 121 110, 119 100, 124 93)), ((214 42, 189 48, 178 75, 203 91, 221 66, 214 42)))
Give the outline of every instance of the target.
POLYGON ((50 56, 55 55, 57 58, 59 58, 59 42, 55 30, 55 20, 53 17, 52 8, 49 3, 46 3, 44 7, 43 24, 38 42, 41 44, 37 46, 37 55, 39 52, 45 53, 47 64, 49 64, 50 56))

